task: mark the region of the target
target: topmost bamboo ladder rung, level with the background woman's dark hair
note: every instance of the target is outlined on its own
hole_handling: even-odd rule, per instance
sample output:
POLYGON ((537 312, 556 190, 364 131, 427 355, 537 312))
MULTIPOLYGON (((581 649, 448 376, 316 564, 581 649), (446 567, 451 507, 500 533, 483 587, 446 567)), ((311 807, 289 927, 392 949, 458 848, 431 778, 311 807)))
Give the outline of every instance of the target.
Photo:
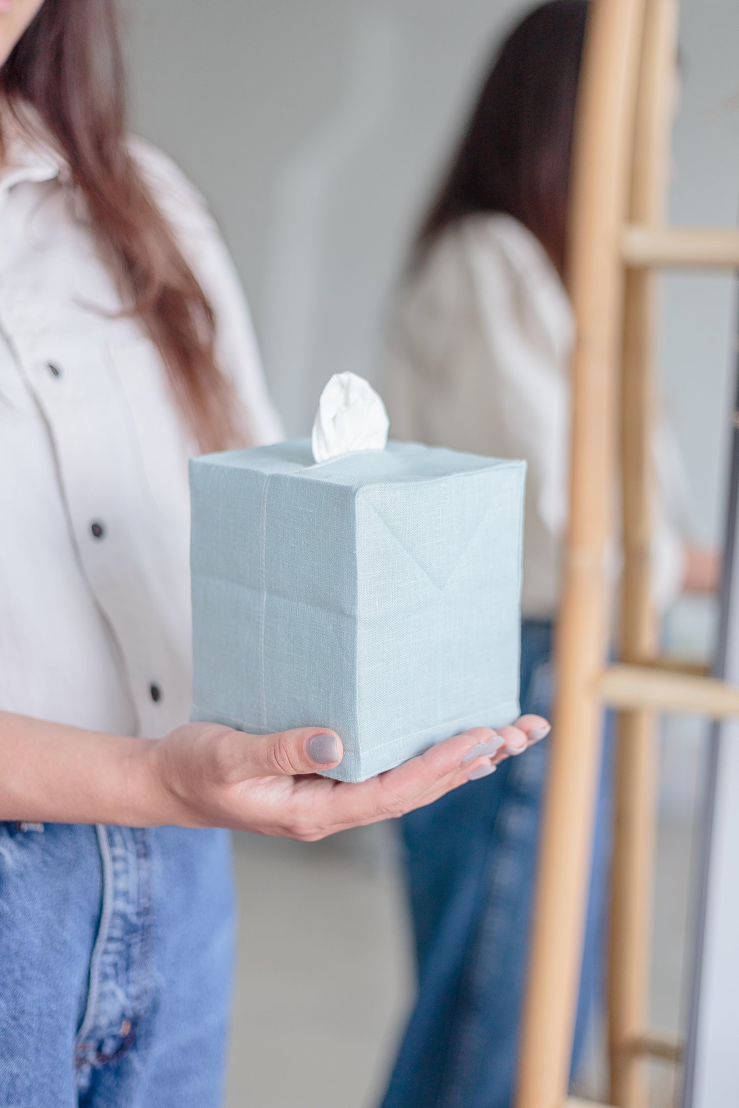
POLYGON ((634 268, 739 269, 739 230, 633 223, 624 227, 620 250, 634 268))

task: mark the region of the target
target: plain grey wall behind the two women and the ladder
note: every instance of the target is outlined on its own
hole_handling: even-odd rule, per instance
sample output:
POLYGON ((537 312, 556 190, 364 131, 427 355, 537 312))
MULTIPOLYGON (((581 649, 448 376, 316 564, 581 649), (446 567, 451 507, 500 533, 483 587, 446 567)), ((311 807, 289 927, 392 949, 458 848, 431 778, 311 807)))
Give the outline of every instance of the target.
MULTIPOLYGON (((291 432, 330 373, 371 376, 409 233, 517 0, 132 0, 137 130, 208 197, 291 432)), ((685 0, 671 216, 733 223, 739 4, 685 0)), ((667 406, 692 516, 720 532, 730 411, 726 277, 670 277, 667 406)))

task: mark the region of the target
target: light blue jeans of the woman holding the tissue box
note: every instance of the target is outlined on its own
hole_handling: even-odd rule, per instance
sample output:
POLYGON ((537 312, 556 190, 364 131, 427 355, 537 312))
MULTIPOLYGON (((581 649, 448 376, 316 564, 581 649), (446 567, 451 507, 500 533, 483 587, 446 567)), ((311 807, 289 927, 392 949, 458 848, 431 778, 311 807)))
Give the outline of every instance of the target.
POLYGON ((216 1108, 224 831, 0 823, 0 1105, 216 1108))

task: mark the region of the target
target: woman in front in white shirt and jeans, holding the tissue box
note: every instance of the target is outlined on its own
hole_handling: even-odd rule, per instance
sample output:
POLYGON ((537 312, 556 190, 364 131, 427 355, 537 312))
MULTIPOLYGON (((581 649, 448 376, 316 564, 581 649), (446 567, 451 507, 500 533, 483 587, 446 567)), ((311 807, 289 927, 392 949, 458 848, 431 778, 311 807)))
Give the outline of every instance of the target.
POLYGON ((126 138, 112 0, 0 0, 0 1104, 218 1104, 216 829, 400 814, 545 726, 351 786, 326 728, 185 724, 187 456, 279 433, 213 220, 126 138))

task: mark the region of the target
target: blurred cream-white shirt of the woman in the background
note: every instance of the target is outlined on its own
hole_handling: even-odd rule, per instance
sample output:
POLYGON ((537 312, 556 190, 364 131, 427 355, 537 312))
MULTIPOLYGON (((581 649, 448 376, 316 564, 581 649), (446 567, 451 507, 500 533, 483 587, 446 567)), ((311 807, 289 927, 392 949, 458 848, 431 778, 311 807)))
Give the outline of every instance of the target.
MULTIPOLYGON (((411 275, 384 369, 393 438, 528 463, 522 606, 532 617, 552 618, 560 604, 573 341, 567 295, 538 239, 509 215, 476 215, 411 275)), ((653 595, 665 608, 682 581, 687 512, 664 420, 653 456, 653 595)))

